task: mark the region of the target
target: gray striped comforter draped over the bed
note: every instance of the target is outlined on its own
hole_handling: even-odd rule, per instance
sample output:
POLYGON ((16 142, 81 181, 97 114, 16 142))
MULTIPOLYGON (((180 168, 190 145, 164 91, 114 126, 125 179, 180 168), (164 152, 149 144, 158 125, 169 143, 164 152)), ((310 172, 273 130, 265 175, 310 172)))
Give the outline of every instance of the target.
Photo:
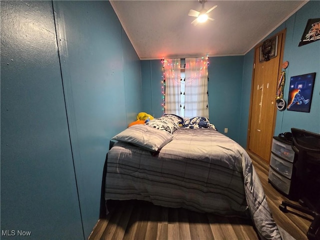
POLYGON ((247 216, 261 239, 281 239, 250 157, 212 128, 175 130, 156 155, 116 142, 107 153, 104 197, 247 216))

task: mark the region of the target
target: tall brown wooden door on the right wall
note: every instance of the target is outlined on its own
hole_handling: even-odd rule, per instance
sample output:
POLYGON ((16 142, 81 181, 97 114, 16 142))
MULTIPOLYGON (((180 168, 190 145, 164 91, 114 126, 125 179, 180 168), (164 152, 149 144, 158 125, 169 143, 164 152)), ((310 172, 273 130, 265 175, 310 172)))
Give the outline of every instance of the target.
POLYGON ((250 117, 248 127, 248 149, 269 162, 271 141, 275 125, 275 92, 281 72, 284 31, 277 39, 277 55, 261 61, 260 46, 255 47, 252 79, 250 117))

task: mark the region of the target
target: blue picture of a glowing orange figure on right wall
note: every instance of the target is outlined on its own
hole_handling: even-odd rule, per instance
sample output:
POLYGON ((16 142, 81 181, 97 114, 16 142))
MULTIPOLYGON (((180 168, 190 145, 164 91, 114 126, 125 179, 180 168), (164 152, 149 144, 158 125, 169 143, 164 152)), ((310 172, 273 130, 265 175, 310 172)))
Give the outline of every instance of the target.
POLYGON ((315 72, 290 77, 288 105, 290 111, 310 112, 315 72))

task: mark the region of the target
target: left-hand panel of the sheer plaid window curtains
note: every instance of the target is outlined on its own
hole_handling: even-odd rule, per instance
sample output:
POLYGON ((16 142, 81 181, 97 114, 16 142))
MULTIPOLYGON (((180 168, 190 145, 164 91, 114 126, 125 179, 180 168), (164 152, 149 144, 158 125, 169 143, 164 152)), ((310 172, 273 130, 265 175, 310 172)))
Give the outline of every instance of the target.
POLYGON ((164 112, 180 115, 180 58, 164 59, 164 112))

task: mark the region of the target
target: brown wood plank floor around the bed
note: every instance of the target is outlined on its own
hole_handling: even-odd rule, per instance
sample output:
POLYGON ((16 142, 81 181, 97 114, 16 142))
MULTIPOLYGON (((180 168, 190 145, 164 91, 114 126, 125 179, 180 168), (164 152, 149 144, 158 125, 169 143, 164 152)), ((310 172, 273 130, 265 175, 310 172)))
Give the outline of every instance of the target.
MULTIPOLYGON (((306 239, 311 218, 283 213, 288 200, 268 183, 268 165, 250 154, 275 222, 295 239, 306 239)), ((167 208, 143 201, 116 201, 106 219, 99 219, 88 239, 259 239, 249 219, 167 208)))

